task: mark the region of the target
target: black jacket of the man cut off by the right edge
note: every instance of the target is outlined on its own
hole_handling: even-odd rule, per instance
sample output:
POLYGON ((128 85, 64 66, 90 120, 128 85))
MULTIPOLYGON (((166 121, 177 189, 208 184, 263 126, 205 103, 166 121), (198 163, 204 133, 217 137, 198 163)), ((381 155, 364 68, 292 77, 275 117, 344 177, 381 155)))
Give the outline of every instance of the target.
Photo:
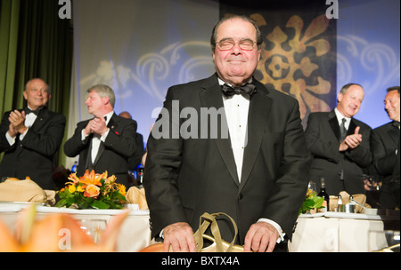
POLYGON ((382 182, 380 203, 389 209, 396 206, 390 182, 394 168, 399 167, 396 163, 399 134, 399 129, 391 122, 374 129, 371 137, 372 171, 382 182))

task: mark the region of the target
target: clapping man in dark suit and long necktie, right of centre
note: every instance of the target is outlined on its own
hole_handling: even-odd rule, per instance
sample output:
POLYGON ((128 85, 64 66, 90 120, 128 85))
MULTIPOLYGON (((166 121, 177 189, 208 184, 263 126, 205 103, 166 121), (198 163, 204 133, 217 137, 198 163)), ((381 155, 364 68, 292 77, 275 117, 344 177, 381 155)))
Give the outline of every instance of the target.
POLYGON ((312 113, 307 121, 307 146, 313 155, 310 179, 325 179, 329 195, 364 194, 364 173, 372 162, 372 129, 354 118, 364 99, 356 83, 344 85, 331 112, 312 113))

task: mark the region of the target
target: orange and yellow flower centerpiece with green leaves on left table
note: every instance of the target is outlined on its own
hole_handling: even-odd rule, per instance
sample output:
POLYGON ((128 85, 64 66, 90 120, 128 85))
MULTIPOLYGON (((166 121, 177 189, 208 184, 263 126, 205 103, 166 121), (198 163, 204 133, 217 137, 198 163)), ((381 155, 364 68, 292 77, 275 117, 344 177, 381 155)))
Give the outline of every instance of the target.
POLYGON ((107 171, 97 174, 86 170, 84 176, 71 173, 57 194, 60 201, 57 207, 76 207, 78 209, 122 209, 126 203, 126 187, 116 183, 116 177, 108 177, 107 171))

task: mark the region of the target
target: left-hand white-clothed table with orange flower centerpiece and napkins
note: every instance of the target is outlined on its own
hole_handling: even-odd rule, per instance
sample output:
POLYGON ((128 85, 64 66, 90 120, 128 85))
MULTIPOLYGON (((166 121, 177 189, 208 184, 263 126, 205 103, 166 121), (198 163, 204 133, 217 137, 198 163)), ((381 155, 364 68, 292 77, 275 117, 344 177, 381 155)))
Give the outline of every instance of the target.
POLYGON ((114 176, 71 173, 59 191, 31 179, 0 183, 0 251, 123 251, 151 244, 143 188, 114 176), (55 200, 57 197, 57 202, 55 200))

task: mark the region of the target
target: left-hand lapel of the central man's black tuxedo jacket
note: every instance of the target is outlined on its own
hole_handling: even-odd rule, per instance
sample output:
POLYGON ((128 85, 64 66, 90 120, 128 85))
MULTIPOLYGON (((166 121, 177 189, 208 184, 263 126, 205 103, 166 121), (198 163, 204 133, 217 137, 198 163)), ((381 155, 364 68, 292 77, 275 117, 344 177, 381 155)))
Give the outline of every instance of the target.
MULTIPOLYGON (((221 86, 218 84, 217 75, 212 75, 209 77, 209 80, 206 81, 203 85, 201 85, 203 91, 200 92, 201 99, 201 107, 215 107, 217 110, 220 108, 224 108, 223 97, 221 86)), ((218 126, 218 136, 217 139, 213 139, 217 145, 217 149, 225 162, 225 165, 230 172, 231 177, 233 178, 235 184, 237 186, 240 185, 240 181, 238 179, 238 174, 236 170, 235 160, 233 157, 233 149, 231 147, 230 138, 224 139, 221 138, 222 130, 228 131, 227 119, 225 117, 225 110, 221 110, 221 122, 217 124, 218 126), (223 127, 223 128, 222 128, 223 127)), ((210 122, 208 121, 208 131, 210 134, 210 122)), ((208 134, 208 136, 209 136, 208 134)))

